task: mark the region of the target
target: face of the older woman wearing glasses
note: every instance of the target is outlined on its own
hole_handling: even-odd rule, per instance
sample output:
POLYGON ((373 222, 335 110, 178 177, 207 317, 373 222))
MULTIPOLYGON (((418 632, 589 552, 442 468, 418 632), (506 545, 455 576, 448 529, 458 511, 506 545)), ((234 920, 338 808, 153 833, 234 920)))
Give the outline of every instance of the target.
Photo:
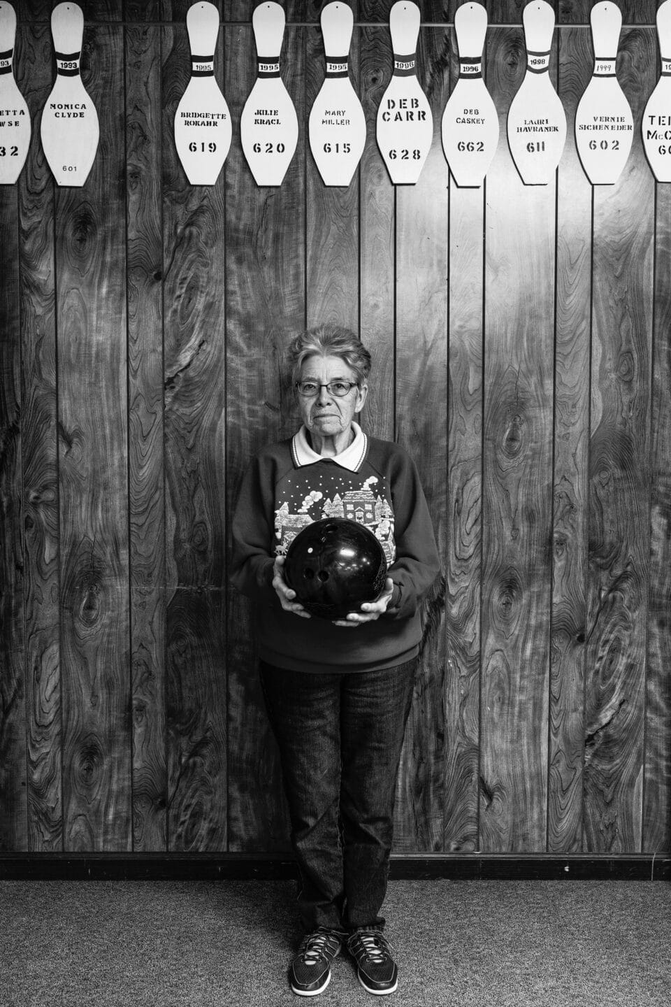
POLYGON ((319 437, 336 437, 349 430, 356 413, 366 401, 367 385, 360 388, 353 385, 342 398, 330 395, 323 386, 340 378, 341 381, 356 381, 356 374, 340 356, 308 356, 303 363, 299 381, 314 381, 322 388, 311 399, 298 396, 303 422, 310 433, 319 437))

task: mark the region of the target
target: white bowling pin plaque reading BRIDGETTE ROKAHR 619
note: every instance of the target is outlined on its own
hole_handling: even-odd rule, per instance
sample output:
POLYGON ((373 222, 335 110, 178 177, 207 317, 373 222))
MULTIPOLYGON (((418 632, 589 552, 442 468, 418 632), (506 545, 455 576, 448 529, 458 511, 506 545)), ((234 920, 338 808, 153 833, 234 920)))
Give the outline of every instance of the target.
POLYGON ((230 113, 214 80, 219 12, 194 3, 186 12, 191 79, 175 112, 175 147, 191 185, 214 185, 230 147, 230 113))

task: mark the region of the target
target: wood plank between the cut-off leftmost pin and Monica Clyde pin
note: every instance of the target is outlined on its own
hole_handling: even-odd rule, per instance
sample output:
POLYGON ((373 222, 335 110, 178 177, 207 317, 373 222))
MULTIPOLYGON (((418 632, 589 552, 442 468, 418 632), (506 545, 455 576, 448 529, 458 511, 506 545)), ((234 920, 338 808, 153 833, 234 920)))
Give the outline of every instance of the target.
POLYGON ((22 28, 19 37, 17 81, 32 120, 18 181, 28 848, 50 853, 62 848, 53 182, 39 142, 39 118, 52 85, 51 34, 40 24, 22 28))

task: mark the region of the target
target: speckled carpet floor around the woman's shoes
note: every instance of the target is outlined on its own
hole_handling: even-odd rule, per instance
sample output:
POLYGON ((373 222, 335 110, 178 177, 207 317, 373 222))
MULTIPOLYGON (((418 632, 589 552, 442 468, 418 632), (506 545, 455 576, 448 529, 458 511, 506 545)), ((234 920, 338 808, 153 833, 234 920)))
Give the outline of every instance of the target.
POLYGON ((392 881, 399 988, 336 961, 286 979, 287 881, 0 882, 1 1007, 668 1007, 671 886, 653 881, 392 881))

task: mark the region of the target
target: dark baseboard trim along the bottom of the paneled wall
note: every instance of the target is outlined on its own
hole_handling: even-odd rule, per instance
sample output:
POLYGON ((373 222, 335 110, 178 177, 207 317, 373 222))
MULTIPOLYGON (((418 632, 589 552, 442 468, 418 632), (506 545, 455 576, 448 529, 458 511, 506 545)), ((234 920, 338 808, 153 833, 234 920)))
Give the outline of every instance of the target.
MULTIPOLYGON (((291 854, 6 853, 0 880, 216 881, 296 877, 291 854)), ((671 854, 413 854, 391 858, 405 880, 671 880, 671 854)))

